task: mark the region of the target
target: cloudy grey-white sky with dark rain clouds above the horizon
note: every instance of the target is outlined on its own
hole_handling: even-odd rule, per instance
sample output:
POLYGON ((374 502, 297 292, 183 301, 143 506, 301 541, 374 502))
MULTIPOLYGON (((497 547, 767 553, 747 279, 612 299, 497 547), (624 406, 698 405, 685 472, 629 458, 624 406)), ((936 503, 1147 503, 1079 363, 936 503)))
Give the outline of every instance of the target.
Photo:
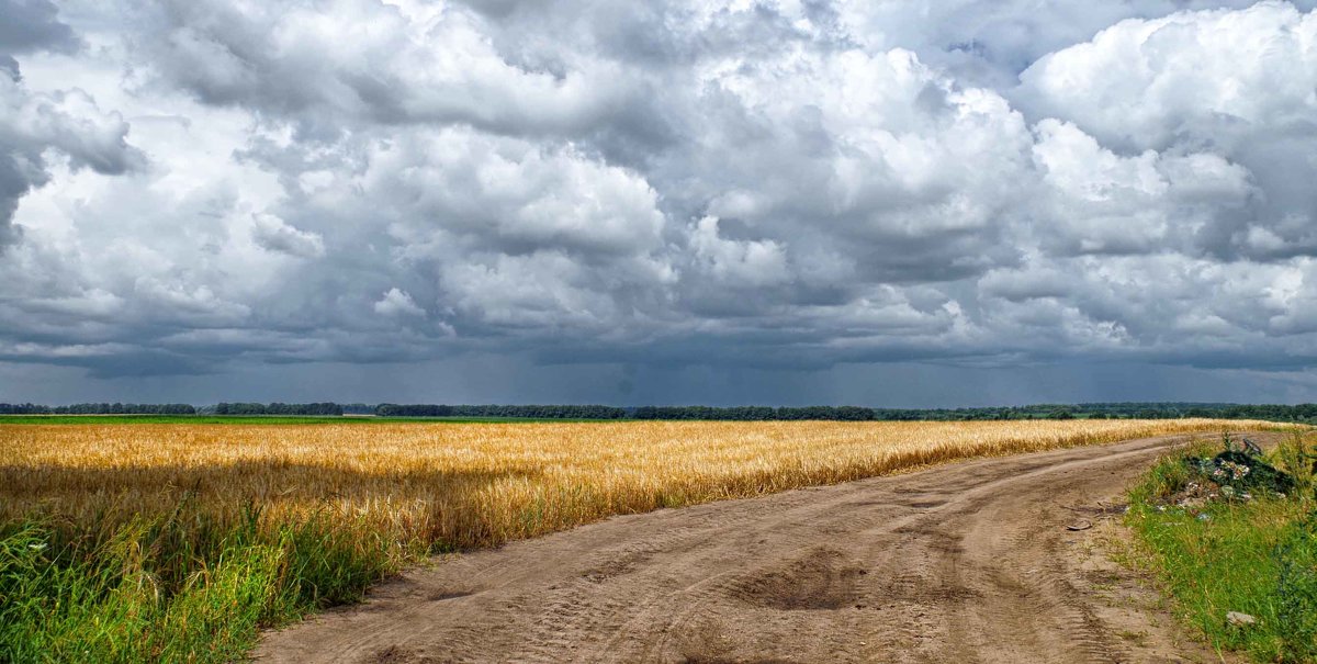
POLYGON ((1317 0, 0 0, 0 401, 1317 401, 1317 0))

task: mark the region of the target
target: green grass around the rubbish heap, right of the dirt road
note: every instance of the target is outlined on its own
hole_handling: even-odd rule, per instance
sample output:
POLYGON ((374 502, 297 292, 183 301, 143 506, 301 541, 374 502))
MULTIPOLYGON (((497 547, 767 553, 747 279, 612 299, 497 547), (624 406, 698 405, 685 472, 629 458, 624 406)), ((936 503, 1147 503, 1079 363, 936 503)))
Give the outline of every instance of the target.
POLYGON ((1214 647, 1255 661, 1317 663, 1317 501, 1300 445, 1289 441, 1271 457, 1300 481, 1293 495, 1177 506, 1172 498, 1201 481, 1183 460, 1220 451, 1201 448, 1162 460, 1130 494, 1127 524, 1142 564, 1179 617, 1214 647), (1229 626, 1227 611, 1258 624, 1229 626))

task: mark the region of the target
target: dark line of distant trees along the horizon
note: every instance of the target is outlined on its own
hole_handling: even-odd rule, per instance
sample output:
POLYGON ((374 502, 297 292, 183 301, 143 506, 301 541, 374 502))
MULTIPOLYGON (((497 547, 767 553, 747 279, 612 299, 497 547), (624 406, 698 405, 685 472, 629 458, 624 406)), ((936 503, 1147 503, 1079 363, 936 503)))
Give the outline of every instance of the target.
POLYGON ((1177 419, 1221 418, 1317 423, 1317 404, 1238 403, 1077 403, 986 408, 868 408, 859 406, 444 406, 381 403, 75 403, 41 406, 0 403, 0 415, 377 415, 382 418, 507 418, 578 420, 844 420, 971 422, 1023 419, 1177 419))

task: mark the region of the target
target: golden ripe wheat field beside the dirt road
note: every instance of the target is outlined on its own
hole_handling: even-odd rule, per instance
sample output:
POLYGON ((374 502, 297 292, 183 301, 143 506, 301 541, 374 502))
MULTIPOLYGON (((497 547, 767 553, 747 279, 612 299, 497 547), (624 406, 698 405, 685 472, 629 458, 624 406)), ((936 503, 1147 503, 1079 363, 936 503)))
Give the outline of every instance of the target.
POLYGON ((390 538, 487 545, 615 514, 872 477, 971 456, 1274 427, 975 423, 55 424, 0 427, 0 518, 312 512, 390 538))

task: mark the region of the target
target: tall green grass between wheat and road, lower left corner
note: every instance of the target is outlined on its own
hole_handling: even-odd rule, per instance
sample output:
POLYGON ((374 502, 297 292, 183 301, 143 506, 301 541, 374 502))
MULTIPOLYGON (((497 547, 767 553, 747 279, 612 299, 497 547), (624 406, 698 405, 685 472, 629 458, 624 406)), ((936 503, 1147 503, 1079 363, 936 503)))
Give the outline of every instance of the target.
POLYGON ((224 522, 188 502, 107 532, 0 527, 0 661, 233 661, 261 627, 358 601, 429 551, 341 515, 224 522), (346 523, 346 524, 344 524, 346 523))

